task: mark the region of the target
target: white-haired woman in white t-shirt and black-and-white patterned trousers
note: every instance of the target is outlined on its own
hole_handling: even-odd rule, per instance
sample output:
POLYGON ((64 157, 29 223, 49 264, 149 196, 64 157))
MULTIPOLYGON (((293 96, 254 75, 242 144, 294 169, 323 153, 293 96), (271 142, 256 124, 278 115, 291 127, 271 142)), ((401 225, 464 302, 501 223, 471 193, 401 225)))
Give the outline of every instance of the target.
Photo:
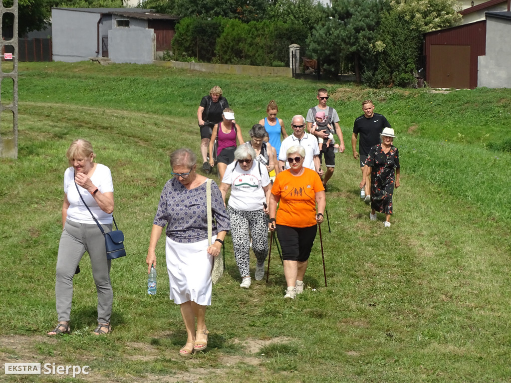
POLYGON ((240 287, 250 287, 250 236, 251 247, 257 258, 255 280, 264 277, 264 261, 268 255, 268 202, 270 177, 266 166, 255 161, 255 151, 244 143, 234 152, 235 161, 227 166, 220 192, 225 195, 231 187, 227 212, 233 238, 234 255, 240 270, 240 287))

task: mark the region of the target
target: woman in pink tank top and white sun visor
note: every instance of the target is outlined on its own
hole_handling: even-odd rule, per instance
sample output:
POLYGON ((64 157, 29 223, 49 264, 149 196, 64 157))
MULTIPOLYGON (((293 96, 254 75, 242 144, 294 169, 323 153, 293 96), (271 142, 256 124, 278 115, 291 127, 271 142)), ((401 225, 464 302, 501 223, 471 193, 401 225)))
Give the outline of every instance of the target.
POLYGON ((241 145, 243 142, 243 136, 241 135, 241 128, 234 121, 234 111, 231 108, 225 108, 222 114, 222 122, 216 124, 213 127, 213 132, 210 139, 210 164, 215 166, 215 159, 213 157, 213 146, 215 139, 218 136, 218 147, 217 152, 217 166, 220 180, 222 180, 227 169, 227 165, 234 161, 234 151, 236 150, 236 139, 241 145))

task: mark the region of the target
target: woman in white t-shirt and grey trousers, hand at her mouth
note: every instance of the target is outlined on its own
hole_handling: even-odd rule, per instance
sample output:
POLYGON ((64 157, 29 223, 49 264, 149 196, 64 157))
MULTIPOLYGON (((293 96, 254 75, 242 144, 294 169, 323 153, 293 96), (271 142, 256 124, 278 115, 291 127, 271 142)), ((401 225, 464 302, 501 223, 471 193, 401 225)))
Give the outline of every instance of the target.
POLYGON ((92 277, 98 293, 96 335, 110 332, 113 292, 110 284, 110 260, 106 259, 105 238, 84 202, 107 233, 112 230, 113 184, 110 169, 95 163, 96 154, 89 141, 77 139, 66 157, 64 173, 63 232, 57 255, 55 298, 58 324, 48 335, 69 333, 73 299, 73 276, 85 251, 89 254, 92 277), (80 198, 81 195, 81 198, 80 198), (83 198, 83 201, 82 201, 83 198))

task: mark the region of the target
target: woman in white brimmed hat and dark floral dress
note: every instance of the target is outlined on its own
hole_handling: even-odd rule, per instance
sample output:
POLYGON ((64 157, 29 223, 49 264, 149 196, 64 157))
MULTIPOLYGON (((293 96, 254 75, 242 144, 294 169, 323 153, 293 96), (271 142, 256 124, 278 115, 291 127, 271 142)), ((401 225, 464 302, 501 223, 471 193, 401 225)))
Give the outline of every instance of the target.
POLYGON ((392 194, 394 186, 399 187, 399 153, 392 145, 394 129, 385 128, 380 134, 382 142, 369 151, 364 162, 360 188, 365 186, 365 180, 371 172, 371 213, 369 218, 376 221, 376 211, 385 213, 384 227, 390 227, 392 214, 392 194), (394 174, 395 169, 395 174, 394 174))

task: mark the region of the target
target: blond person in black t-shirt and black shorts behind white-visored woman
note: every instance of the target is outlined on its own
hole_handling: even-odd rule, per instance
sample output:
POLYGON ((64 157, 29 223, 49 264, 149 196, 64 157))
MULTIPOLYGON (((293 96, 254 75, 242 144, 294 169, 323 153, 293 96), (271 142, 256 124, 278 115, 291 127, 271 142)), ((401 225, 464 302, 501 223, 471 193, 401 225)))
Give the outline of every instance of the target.
POLYGON ((225 97, 222 97, 222 89, 214 86, 210 90, 210 95, 204 96, 197 109, 197 119, 200 128, 200 153, 202 154, 202 170, 206 173, 211 171, 210 162, 207 160, 207 150, 210 146, 210 138, 213 126, 222 121, 222 113, 229 103, 225 97))

